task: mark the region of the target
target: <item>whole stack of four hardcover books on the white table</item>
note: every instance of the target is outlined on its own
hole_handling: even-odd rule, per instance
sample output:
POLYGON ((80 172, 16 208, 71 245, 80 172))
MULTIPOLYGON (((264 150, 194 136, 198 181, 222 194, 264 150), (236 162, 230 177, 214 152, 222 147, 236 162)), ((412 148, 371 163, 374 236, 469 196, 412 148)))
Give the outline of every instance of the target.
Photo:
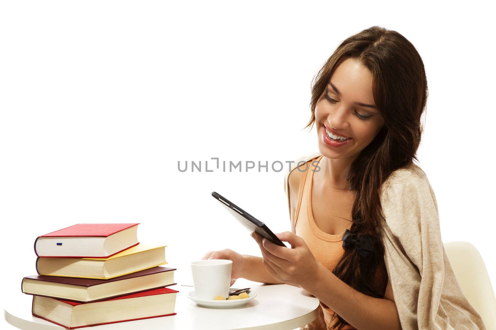
POLYGON ((167 245, 140 244, 138 224, 77 224, 36 238, 37 276, 22 280, 32 314, 67 329, 176 315, 167 245))

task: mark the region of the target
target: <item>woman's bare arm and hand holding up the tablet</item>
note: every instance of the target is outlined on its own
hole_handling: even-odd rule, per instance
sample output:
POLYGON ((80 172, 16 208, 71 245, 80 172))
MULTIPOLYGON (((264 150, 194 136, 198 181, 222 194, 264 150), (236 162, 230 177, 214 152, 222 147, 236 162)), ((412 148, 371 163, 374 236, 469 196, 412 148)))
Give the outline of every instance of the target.
POLYGON ((263 255, 267 273, 276 281, 307 290, 359 330, 402 329, 391 283, 384 299, 363 294, 337 278, 312 255, 305 240, 291 232, 275 234, 291 248, 252 233, 263 255))

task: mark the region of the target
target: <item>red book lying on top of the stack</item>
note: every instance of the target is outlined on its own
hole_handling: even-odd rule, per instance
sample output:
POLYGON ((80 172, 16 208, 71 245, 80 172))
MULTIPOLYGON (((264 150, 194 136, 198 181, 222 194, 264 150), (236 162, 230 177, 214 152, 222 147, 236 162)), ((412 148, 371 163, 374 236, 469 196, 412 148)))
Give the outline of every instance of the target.
POLYGON ((138 245, 138 223, 77 224, 38 236, 38 257, 108 258, 138 245))

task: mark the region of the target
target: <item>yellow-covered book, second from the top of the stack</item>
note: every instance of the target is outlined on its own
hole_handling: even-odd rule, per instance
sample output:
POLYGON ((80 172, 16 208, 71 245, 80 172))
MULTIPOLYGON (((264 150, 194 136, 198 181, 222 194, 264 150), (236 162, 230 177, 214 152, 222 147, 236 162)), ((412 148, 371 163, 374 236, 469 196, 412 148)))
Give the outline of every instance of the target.
POLYGON ((38 257, 39 275, 108 280, 167 264, 167 245, 138 244, 108 258, 38 257))

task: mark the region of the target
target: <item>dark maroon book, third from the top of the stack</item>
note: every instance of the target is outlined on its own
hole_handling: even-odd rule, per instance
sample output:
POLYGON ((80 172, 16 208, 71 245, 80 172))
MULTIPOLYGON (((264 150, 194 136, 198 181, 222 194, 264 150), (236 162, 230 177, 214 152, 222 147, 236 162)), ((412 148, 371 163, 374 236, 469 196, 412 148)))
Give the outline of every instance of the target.
POLYGON ((29 276, 22 279, 21 290, 26 294, 89 303, 177 284, 174 283, 176 270, 153 267, 110 280, 29 276))

